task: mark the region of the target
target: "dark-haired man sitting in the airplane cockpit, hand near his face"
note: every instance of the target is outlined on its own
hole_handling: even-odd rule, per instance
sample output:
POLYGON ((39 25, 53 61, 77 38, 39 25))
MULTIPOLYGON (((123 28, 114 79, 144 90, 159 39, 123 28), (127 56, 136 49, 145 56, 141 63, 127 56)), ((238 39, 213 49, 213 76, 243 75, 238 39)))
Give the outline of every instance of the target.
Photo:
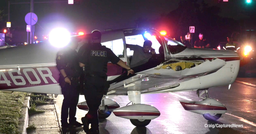
POLYGON ((130 62, 130 68, 147 63, 152 55, 156 54, 151 46, 152 42, 150 40, 145 40, 143 47, 139 45, 126 44, 126 48, 133 50, 133 58, 130 62))

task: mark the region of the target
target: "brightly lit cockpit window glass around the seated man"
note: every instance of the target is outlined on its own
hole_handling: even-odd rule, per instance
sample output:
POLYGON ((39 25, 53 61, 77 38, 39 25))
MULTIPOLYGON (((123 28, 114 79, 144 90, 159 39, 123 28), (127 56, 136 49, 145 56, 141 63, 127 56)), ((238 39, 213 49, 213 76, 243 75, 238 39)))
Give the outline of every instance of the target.
MULTIPOLYGON (((148 40, 151 40, 152 48, 155 49, 156 54, 159 54, 159 47, 161 45, 156 39, 156 37, 152 35, 151 37, 148 37, 148 40)), ((125 41, 126 41, 126 44, 139 45, 143 47, 143 43, 145 39, 143 38, 142 34, 139 34, 139 35, 133 35, 133 36, 125 36, 125 41)), ((127 56, 133 55, 133 51, 131 51, 130 48, 127 48, 126 52, 127 52, 127 56)))

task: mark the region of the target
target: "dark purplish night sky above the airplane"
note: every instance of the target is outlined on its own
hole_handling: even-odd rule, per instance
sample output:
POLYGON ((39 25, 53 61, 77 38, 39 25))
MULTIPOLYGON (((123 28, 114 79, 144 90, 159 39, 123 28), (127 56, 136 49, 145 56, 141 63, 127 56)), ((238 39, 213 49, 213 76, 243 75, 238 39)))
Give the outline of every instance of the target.
MULTIPOLYGON (((6 7, 7 3, 0 0, 0 7, 6 7)), ((34 0, 58 1, 58 0, 34 0)), ((65 1, 65 0, 59 0, 65 1)), ((68 1, 68 0, 66 0, 68 1)), ((231 1, 231 0, 230 0, 231 1)), ((237 0, 235 0, 237 1, 237 0)), ((242 0, 241 0, 242 1, 242 0)), ((30 2, 30 0, 11 0, 11 2, 30 2)), ((205 0, 209 5, 221 7, 221 16, 237 17, 242 7, 237 3, 217 3, 217 0, 205 0)), ((160 14, 168 14, 178 7, 179 0, 83 0, 80 5, 68 5, 66 3, 35 3, 34 12, 39 18, 39 24, 44 31, 49 31, 56 26, 63 26, 74 31, 85 29, 91 32, 94 29, 118 29, 135 27, 139 17, 154 19, 160 14)), ((25 31, 25 15, 30 11, 29 4, 11 5, 12 26, 20 26, 25 31)), ((42 31, 38 25, 36 31, 42 31)))

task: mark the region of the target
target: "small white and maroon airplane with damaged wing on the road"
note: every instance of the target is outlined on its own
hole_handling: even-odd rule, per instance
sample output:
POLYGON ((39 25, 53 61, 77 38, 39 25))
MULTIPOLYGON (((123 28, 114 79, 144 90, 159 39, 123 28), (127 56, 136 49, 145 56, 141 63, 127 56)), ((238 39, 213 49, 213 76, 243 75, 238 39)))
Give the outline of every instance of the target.
MULTIPOLYGON (((49 34, 49 42, 0 49, 0 90, 62 94, 56 54, 60 47, 67 45, 69 38, 63 29, 54 33, 58 35, 49 34)), ((197 91, 201 101, 180 100, 180 103, 185 110, 202 114, 207 120, 217 120, 227 112, 224 104, 208 97, 208 89, 227 85, 230 88, 236 80, 243 55, 234 51, 187 48, 165 34, 144 28, 102 32, 102 45, 110 48, 127 65, 136 57, 132 57, 133 51, 126 48, 126 43, 142 46, 146 39, 151 40, 156 54, 149 62, 134 67, 135 74, 128 76, 122 67, 108 63, 110 87, 99 108, 100 118, 107 118, 113 112, 117 117, 130 119, 135 126, 147 126, 160 116, 160 111, 142 104, 140 95, 179 91, 197 91), (128 95, 132 103, 120 107, 116 101, 108 99, 111 95, 128 95)), ((80 46, 86 45, 89 36, 78 36, 83 38, 80 46)), ((88 110, 86 102, 77 107, 88 110)))

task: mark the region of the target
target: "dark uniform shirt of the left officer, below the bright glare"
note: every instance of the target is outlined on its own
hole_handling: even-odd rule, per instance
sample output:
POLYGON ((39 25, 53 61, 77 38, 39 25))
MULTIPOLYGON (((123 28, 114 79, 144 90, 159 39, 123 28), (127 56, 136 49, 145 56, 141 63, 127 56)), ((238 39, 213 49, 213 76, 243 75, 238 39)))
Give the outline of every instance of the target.
MULTIPOLYGON (((82 71, 80 70, 76 50, 68 47, 61 49, 57 52, 56 63, 57 69, 59 71, 64 69, 68 77, 80 77, 82 71)), ((60 76, 62 75, 60 74, 60 76)))

